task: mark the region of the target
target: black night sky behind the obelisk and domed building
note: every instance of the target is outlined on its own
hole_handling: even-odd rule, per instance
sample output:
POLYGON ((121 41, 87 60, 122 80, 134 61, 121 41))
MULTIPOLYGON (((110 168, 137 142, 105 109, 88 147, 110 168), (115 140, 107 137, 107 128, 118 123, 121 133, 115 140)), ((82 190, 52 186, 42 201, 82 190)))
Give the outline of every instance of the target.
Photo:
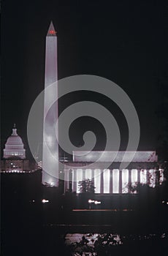
MULTIPOLYGON (((161 103, 159 80, 167 68, 166 1, 6 0, 1 10, 2 148, 13 123, 28 148, 27 118, 34 99, 44 89, 45 36, 53 20, 58 31, 58 78, 90 74, 117 83, 137 109, 139 149, 156 149, 160 132, 156 116, 161 103)), ((72 99, 77 100, 75 97, 64 98, 60 110, 72 99)), ((97 95, 77 97, 104 104, 97 95)), ((128 140, 126 121, 114 104, 106 101, 104 105, 118 121, 124 149, 128 140)), ((102 149, 103 128, 90 119, 85 123, 83 118, 72 124, 72 140, 77 145, 83 131, 93 129, 98 136, 96 149, 102 149)))

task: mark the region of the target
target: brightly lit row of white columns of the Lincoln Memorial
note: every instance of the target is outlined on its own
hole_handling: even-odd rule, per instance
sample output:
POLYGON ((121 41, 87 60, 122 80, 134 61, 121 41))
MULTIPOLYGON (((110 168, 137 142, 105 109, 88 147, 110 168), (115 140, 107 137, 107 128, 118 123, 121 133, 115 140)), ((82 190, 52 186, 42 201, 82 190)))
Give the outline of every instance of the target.
MULTIPOLYGON (((160 179, 163 181, 163 170, 159 170, 160 179)), ((149 184, 150 187, 155 187, 156 169, 69 169, 65 170, 64 190, 70 189, 77 193, 79 190, 79 181, 92 179, 96 193, 128 193, 129 185, 149 184)))

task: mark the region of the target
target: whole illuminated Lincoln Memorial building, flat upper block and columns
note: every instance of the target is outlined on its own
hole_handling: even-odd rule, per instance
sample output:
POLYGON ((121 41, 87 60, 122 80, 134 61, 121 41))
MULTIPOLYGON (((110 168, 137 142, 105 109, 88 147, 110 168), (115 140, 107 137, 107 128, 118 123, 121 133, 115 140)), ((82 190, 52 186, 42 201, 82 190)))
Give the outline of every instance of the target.
MULTIPOLYGON (((120 169, 120 165, 125 152, 118 151, 115 160, 111 159, 116 154, 115 151, 91 151, 83 157, 77 156, 79 152, 74 152, 73 162, 68 162, 72 168, 64 165, 64 191, 72 190, 79 193, 78 183, 85 179, 92 179, 95 192, 100 194, 118 194, 129 193, 131 187, 137 184, 149 184, 150 187, 156 187, 164 181, 164 170, 159 167, 158 157, 155 151, 137 151, 126 152, 129 159, 130 154, 134 158, 126 169, 120 169), (101 162, 96 159, 103 154, 101 162), (92 164, 91 169, 87 165, 92 164), (109 166, 104 169, 104 166, 109 166), (159 175, 158 175, 159 173, 159 175)), ((125 158, 126 159, 126 158, 125 158)))

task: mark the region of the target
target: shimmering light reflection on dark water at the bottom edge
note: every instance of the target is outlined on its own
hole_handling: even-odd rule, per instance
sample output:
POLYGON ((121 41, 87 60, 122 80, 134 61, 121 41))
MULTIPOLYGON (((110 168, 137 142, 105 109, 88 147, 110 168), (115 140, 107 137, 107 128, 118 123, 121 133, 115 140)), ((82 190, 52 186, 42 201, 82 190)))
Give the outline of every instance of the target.
POLYGON ((134 248, 137 243, 146 246, 146 242, 149 245, 153 241, 167 240, 167 234, 120 236, 111 233, 67 233, 64 239, 72 256, 97 256, 113 255, 117 252, 115 249, 125 250, 124 245, 134 248))

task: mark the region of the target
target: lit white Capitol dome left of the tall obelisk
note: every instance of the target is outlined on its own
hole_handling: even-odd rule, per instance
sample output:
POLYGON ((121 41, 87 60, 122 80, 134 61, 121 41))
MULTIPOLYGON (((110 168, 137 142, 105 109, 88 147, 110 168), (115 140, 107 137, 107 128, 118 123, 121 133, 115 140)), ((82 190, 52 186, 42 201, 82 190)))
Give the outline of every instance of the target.
POLYGON ((17 129, 14 125, 12 129, 12 135, 7 139, 7 143, 4 148, 4 159, 18 158, 25 159, 25 149, 23 141, 17 133, 17 129))

